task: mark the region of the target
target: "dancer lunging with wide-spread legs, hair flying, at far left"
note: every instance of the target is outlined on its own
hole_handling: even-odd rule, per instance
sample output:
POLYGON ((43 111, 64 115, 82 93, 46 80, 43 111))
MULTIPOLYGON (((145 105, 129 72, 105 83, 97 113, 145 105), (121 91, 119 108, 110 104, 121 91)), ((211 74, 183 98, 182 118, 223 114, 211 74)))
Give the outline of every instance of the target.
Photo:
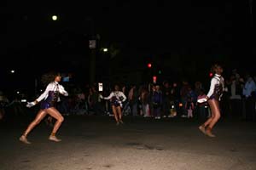
POLYGON ((61 123, 64 121, 63 116, 61 116, 61 113, 55 109, 55 104, 57 101, 60 100, 59 94, 63 94, 64 96, 67 96, 67 91, 59 84, 61 82, 61 74, 60 73, 53 73, 50 72, 48 74, 45 74, 42 78, 42 81, 44 83, 48 83, 47 88, 45 89, 44 93, 41 94, 38 99, 28 102, 26 107, 32 107, 34 105, 37 105, 38 102, 43 100, 41 102, 40 110, 38 111, 38 115, 36 118, 29 124, 29 126, 26 128, 26 131, 20 136, 20 141, 25 144, 31 144, 26 139, 26 136, 28 133, 32 131, 34 127, 38 125, 39 122, 41 122, 44 117, 49 114, 49 116, 52 116, 56 119, 55 125, 53 127, 53 130, 51 134, 49 135, 49 140, 60 142, 61 139, 58 139, 55 136, 55 133, 58 131, 59 127, 61 127, 61 123))

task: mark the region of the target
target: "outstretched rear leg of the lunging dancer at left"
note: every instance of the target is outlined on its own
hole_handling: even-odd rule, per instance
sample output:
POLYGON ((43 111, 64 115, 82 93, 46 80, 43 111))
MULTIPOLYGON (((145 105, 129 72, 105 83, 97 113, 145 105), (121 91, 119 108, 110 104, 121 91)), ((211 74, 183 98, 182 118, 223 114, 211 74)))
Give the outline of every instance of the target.
POLYGON ((26 128, 25 133, 22 134, 22 136, 20 137, 20 141, 25 143, 25 144, 31 144, 27 139, 26 136, 28 133, 30 133, 32 131, 32 129, 34 127, 36 127, 38 125, 39 122, 42 121, 42 119, 44 119, 44 117, 46 116, 47 112, 44 110, 40 110, 38 111, 38 115, 36 116, 36 118, 28 125, 28 127, 26 128))

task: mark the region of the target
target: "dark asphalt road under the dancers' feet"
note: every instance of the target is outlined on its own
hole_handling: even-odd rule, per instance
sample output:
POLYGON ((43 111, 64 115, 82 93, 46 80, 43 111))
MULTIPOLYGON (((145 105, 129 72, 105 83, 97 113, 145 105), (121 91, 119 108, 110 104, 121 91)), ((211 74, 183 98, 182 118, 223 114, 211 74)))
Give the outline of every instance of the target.
POLYGON ((18 140, 33 116, 0 122, 0 170, 255 170, 256 123, 222 118, 209 138, 187 118, 66 116, 60 143, 41 122, 18 140))

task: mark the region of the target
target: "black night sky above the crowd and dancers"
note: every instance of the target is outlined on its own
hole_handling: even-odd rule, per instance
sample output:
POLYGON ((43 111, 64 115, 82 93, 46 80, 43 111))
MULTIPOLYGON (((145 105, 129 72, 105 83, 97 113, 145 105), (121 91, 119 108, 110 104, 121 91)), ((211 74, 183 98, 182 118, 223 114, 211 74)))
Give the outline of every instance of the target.
POLYGON ((10 69, 26 79, 52 68, 89 74, 93 36, 99 75, 109 67, 142 69, 148 62, 166 75, 207 75, 217 61, 226 70, 246 70, 247 63, 253 66, 249 2, 8 1, 0 7, 0 54, 6 59, 1 77, 9 82, 10 69), (58 20, 51 20, 53 14, 58 20), (108 54, 102 54, 105 47, 108 54))

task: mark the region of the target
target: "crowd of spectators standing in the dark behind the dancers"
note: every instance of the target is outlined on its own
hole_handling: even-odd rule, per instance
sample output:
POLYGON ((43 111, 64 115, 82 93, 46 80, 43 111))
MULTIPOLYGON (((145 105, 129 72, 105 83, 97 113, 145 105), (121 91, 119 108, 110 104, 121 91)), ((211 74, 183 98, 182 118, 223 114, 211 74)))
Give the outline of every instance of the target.
MULTIPOLYGON (((242 120, 255 121, 256 85, 255 77, 250 74, 241 76, 236 70, 225 78, 228 89, 220 101, 222 116, 238 117, 242 120)), ((98 91, 97 83, 84 86, 67 86, 68 97, 61 97, 57 109, 64 116, 95 115, 113 116, 110 100, 101 99, 100 95, 108 96, 116 82, 103 82, 103 91, 98 91)), ((166 117, 184 117, 206 119, 211 115, 207 103, 199 104, 197 99, 204 98, 209 84, 200 81, 189 82, 182 79, 179 82, 166 80, 157 83, 136 84, 119 83, 127 99, 123 103, 124 116, 144 116, 161 119, 166 117)), ((1 99, 3 92, 1 92, 1 99)), ((25 114, 24 105, 14 99, 1 100, 0 120, 3 119, 4 108, 15 115, 25 114)))

